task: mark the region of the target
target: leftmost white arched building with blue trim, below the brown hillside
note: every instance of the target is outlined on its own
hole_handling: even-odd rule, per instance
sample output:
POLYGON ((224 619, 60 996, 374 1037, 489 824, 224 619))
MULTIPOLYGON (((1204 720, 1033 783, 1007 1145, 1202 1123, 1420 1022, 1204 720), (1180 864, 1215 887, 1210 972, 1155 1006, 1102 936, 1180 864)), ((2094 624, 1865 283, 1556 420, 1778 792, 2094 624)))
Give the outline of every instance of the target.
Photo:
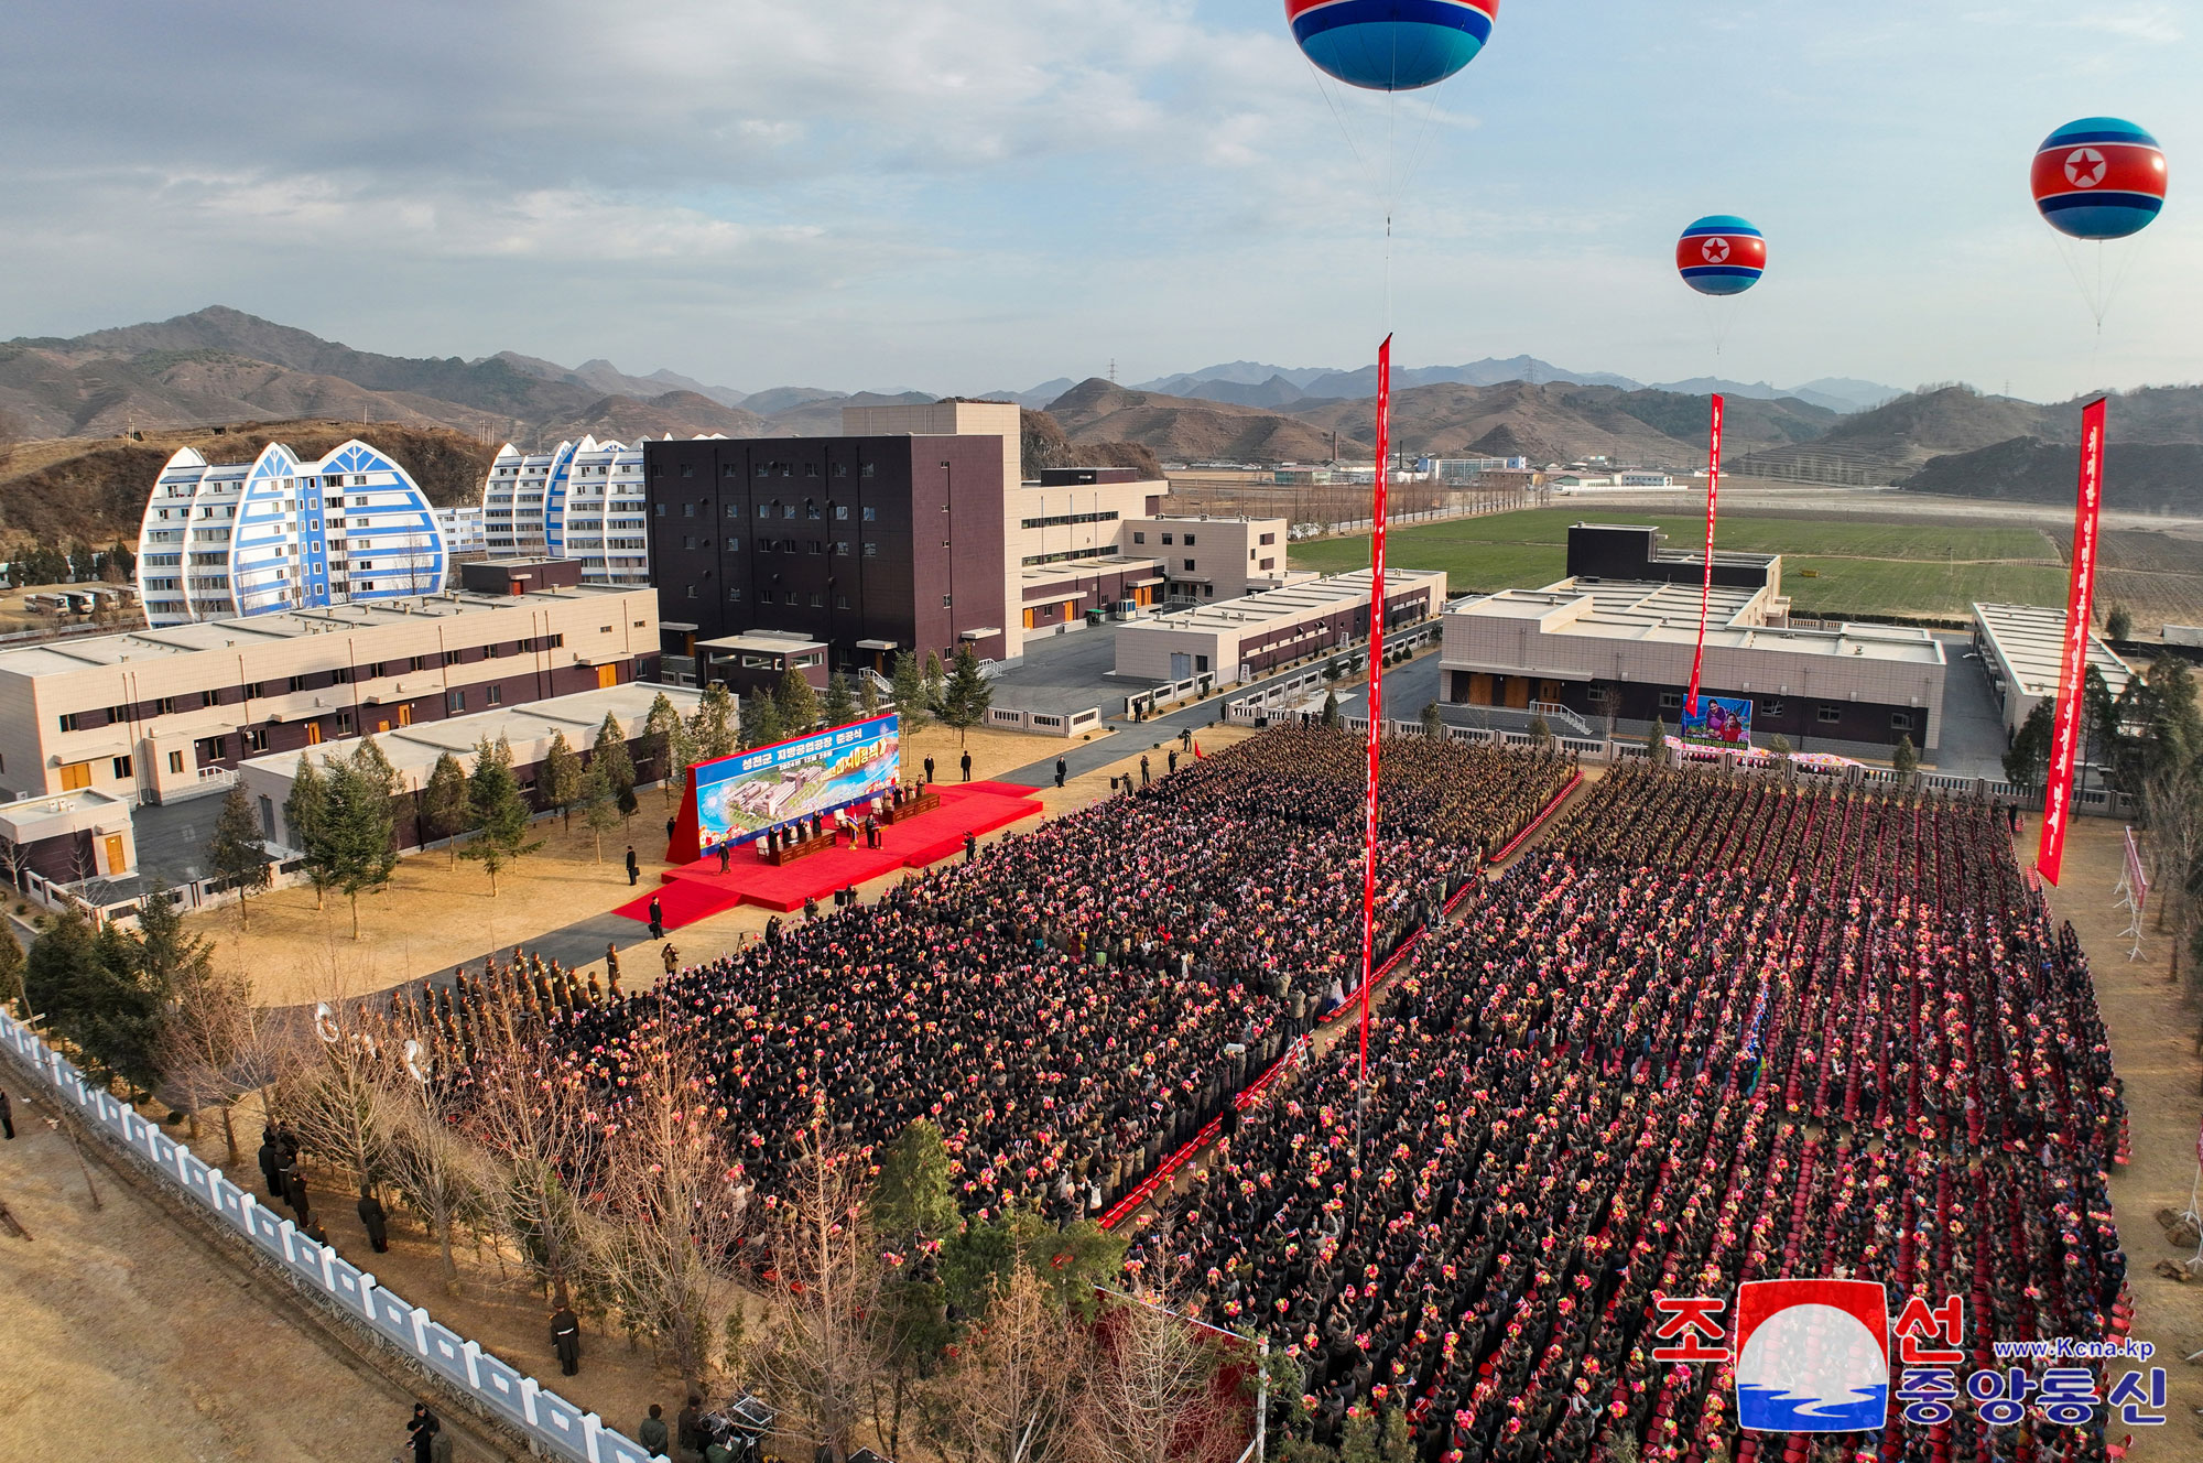
POLYGON ((156 630, 425 595, 443 588, 445 566, 427 496, 357 438, 319 460, 282 443, 251 463, 183 447, 152 485, 137 553, 156 630))

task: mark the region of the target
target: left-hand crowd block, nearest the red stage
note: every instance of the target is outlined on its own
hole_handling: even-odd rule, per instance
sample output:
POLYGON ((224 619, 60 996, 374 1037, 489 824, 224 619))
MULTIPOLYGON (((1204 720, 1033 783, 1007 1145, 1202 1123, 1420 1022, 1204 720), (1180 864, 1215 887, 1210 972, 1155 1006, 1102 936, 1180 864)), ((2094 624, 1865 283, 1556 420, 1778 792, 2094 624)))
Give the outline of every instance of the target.
MULTIPOLYGON (((824 1106, 850 1146, 934 1121, 967 1212, 1095 1216, 1359 985, 1348 751, 1333 732, 1262 734, 645 994, 531 958, 460 972, 432 1025, 465 1051, 469 1011, 518 1003, 604 1110, 637 1027, 683 1027, 758 1192, 824 1106)), ((1379 958, 1569 776, 1547 754, 1430 743, 1388 804, 1379 958)))

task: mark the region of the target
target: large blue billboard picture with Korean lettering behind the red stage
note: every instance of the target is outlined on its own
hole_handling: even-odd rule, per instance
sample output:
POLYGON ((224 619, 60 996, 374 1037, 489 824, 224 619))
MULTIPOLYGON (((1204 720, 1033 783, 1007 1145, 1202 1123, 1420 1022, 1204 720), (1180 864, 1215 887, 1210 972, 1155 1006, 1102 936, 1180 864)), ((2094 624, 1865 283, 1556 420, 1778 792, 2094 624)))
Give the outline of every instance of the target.
POLYGON ((883 798, 901 771, 901 720, 875 716, 701 762, 692 773, 701 844, 740 844, 797 817, 883 798))

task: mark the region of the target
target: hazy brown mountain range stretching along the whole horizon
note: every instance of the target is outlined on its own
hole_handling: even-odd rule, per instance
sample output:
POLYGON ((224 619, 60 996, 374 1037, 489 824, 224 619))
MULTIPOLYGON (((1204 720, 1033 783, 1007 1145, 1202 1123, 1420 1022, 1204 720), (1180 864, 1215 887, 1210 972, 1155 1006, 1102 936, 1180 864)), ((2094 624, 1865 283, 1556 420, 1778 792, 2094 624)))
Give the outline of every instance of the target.
MULTIPOLYGON (((1051 460, 1322 463, 1368 460, 1372 368, 1282 368, 1227 361, 1143 386, 1057 379, 989 392, 1029 408, 1027 438, 1062 441, 1051 460), (1044 410, 1049 423, 1035 425, 1044 410), (1038 436, 1035 436, 1038 432, 1038 436), (1150 456, 1152 454, 1152 456, 1150 456)), ((1826 377, 1791 390, 1716 379, 1639 386, 1608 372, 1569 372, 1535 357, 1403 368, 1392 397, 1392 445, 1408 454, 1527 456, 1538 463, 1606 456, 1694 469, 1705 456, 1705 392, 1729 397, 1732 472, 1802 483, 1910 483, 1967 496, 2040 496, 2060 443, 2077 436, 2077 403, 2040 405, 1965 386, 1901 394, 1826 377)), ((0 452, 26 438, 126 438, 229 430, 227 447, 260 423, 324 434, 383 425, 419 430, 416 447, 454 465, 500 441, 544 445, 584 432, 637 436, 833 434, 844 405, 934 401, 927 392, 837 392, 780 386, 740 392, 670 370, 628 375, 606 359, 560 366, 520 353, 480 359, 355 350, 223 306, 68 339, 0 344, 0 452), (302 425, 293 425, 302 423, 302 425), (467 452, 458 452, 458 447, 467 452)), ((2203 388, 2126 392, 2113 412, 2115 449, 2203 447, 2203 388)), ((18 452, 4 474, 68 458, 66 443, 18 452)), ((1044 458, 1049 454, 1042 454, 1044 458)), ((2190 452, 2150 463, 2152 502, 2188 502, 2190 452)), ((458 467, 465 476, 471 467, 458 467)), ((456 478, 454 478, 456 480, 456 478)), ((70 485, 75 478, 68 480, 70 485)), ((77 491, 53 483, 57 491, 77 491)), ((2113 483, 2117 505, 2124 489, 2113 483)), ((11 524, 13 527, 13 524, 11 524)))

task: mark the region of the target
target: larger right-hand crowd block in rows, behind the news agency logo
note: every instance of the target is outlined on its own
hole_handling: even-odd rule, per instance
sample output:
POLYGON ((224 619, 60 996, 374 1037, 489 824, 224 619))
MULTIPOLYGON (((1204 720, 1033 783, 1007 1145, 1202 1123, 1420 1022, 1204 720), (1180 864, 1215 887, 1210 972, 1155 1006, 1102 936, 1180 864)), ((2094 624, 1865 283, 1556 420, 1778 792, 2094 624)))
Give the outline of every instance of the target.
MULTIPOLYGON (((1961 1298, 1969 1368, 2115 1329, 2119 1084, 1985 802, 1617 771, 1394 985, 1366 1088, 1313 1060, 1132 1249, 1300 1364, 1317 1439, 1375 1406, 1425 1463, 1705 1459, 1729 1375, 1654 1362, 1652 1298, 1734 1324, 1756 1278, 1961 1298)), ((2018 1434, 1961 1392, 1877 1448, 2018 1434)))

